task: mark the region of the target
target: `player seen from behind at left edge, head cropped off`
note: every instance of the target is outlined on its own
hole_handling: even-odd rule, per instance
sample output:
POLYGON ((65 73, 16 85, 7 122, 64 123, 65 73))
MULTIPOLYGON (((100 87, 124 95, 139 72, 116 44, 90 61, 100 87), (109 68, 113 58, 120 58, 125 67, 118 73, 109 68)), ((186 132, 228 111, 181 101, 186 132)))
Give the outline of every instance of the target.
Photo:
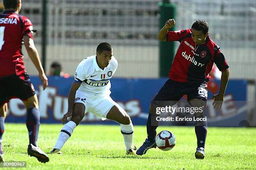
POLYGON ((35 89, 24 67, 21 52, 22 40, 29 57, 39 72, 44 89, 48 85, 48 79, 33 42, 33 25, 28 18, 18 14, 21 0, 3 0, 3 4, 5 11, 0 14, 0 161, 3 161, 2 141, 7 102, 12 98, 19 98, 27 110, 28 155, 45 163, 49 161, 49 158, 36 144, 40 113, 35 89))

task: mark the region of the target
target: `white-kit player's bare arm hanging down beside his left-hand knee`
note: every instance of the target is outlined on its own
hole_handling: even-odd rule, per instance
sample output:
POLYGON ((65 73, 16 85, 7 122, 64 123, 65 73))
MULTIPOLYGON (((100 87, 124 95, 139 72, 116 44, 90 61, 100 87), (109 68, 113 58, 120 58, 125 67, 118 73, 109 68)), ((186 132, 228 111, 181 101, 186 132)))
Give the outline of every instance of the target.
POLYGON ((69 90, 69 97, 68 97, 68 111, 65 115, 63 115, 61 122, 64 124, 64 122, 67 122, 67 118, 73 115, 73 107, 74 107, 74 102, 75 102, 75 97, 76 97, 76 92, 78 88, 80 87, 80 83, 73 82, 72 86, 69 90))

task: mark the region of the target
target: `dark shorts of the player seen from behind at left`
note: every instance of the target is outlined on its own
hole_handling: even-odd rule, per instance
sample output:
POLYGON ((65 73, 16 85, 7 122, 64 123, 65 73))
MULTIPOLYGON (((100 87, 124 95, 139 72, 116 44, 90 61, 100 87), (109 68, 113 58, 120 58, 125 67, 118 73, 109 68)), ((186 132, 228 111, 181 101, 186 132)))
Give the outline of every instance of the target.
POLYGON ((12 98, 27 100, 35 94, 35 89, 27 72, 20 76, 0 77, 0 107, 12 98))

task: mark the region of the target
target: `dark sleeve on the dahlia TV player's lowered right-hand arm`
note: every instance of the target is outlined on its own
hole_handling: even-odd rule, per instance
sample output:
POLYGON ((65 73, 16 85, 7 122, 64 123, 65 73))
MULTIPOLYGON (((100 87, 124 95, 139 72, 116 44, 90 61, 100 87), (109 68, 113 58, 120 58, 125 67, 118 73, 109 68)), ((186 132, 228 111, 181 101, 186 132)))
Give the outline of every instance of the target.
POLYGON ((229 67, 218 45, 215 45, 214 47, 214 63, 220 71, 224 71, 229 67))

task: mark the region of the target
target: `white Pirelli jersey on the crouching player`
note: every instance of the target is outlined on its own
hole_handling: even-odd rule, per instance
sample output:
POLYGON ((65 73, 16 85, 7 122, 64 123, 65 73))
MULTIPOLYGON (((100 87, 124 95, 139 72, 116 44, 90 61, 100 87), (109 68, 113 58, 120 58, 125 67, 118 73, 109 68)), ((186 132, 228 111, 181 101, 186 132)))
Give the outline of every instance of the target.
POLYGON ((117 67, 118 62, 114 56, 111 57, 108 67, 104 70, 97 64, 96 55, 86 57, 79 63, 74 75, 74 81, 81 83, 77 91, 89 96, 109 96, 111 93, 110 78, 117 67))

